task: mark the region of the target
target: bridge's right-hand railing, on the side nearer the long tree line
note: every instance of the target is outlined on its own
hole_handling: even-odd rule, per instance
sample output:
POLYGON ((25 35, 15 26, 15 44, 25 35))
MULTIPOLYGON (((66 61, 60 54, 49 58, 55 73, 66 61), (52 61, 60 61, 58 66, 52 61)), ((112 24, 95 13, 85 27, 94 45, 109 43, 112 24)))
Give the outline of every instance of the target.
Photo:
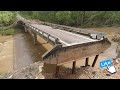
POLYGON ((61 30, 65 30, 68 32, 86 35, 92 39, 99 39, 100 40, 100 39, 106 38, 106 34, 104 32, 98 32, 98 31, 88 30, 88 29, 81 29, 81 28, 65 26, 65 25, 58 25, 58 24, 42 22, 42 21, 41 21, 41 24, 51 26, 55 29, 61 29, 61 30))

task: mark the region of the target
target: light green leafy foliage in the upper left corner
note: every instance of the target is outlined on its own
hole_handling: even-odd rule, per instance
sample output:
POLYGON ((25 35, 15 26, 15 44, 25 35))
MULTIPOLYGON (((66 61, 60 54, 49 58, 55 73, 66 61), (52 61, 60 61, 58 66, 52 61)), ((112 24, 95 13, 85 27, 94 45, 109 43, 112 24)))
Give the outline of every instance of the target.
POLYGON ((0 27, 11 25, 16 19, 13 11, 0 11, 0 27))

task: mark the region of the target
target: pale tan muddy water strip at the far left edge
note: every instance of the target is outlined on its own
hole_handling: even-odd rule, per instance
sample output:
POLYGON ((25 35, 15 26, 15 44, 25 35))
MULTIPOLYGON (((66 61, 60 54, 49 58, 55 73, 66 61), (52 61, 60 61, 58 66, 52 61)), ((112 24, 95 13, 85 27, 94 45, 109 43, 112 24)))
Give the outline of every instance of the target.
POLYGON ((13 70, 13 37, 0 36, 0 74, 13 70))

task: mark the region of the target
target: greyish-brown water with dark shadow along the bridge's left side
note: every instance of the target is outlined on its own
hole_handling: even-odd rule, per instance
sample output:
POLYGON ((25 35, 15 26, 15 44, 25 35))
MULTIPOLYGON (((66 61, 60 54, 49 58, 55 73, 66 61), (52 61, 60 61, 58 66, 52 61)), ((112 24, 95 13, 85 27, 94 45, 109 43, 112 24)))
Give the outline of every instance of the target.
POLYGON ((52 45, 47 45, 48 43, 43 42, 43 39, 39 36, 37 36, 37 39, 37 45, 34 45, 29 33, 20 33, 14 36, 14 69, 22 69, 29 64, 42 60, 41 56, 48 48, 52 48, 52 45))

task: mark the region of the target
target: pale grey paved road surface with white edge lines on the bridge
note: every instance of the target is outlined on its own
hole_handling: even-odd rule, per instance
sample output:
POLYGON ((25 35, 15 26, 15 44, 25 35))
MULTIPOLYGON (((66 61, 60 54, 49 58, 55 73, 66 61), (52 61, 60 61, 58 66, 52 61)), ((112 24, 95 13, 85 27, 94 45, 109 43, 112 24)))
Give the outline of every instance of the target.
POLYGON ((60 29, 53 29, 52 27, 46 25, 38 25, 38 24, 31 24, 31 25, 59 38, 60 42, 67 46, 98 41, 84 35, 74 34, 60 29))

